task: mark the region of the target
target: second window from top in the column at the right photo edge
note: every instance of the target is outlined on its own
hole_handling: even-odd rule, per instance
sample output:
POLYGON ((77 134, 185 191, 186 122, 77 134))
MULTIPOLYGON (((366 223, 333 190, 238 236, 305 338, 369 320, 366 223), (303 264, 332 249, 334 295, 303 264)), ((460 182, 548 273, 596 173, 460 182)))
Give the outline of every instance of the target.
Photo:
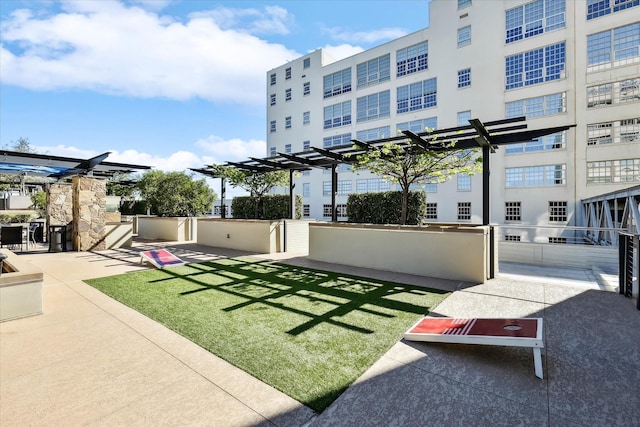
POLYGON ((640 60, 640 22, 587 36, 587 71, 640 60))

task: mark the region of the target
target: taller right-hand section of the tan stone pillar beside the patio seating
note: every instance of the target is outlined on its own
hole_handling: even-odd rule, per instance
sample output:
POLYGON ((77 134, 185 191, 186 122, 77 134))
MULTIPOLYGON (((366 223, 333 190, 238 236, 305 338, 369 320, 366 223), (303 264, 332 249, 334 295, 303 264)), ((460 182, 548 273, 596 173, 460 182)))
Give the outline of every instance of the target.
POLYGON ((77 251, 106 248, 106 181, 73 178, 73 247, 77 251))

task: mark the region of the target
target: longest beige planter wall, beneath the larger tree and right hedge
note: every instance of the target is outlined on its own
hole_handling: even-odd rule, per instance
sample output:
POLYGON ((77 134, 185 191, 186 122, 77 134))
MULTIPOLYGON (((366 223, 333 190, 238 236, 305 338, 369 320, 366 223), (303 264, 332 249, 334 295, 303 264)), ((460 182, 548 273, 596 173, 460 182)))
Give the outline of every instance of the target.
POLYGON ((309 258, 420 276, 484 283, 489 227, 309 224, 309 258))

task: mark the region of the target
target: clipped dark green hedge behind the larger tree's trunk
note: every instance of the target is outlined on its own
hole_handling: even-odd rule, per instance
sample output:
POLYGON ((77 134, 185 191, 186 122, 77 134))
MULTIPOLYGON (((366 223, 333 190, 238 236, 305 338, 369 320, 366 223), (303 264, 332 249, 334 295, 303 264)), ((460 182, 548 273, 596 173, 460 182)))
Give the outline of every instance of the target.
MULTIPOLYGON (((410 191, 406 224, 422 224, 427 213, 424 191, 410 191)), ((400 224, 402 192, 353 193, 347 199, 349 222, 367 224, 400 224)))

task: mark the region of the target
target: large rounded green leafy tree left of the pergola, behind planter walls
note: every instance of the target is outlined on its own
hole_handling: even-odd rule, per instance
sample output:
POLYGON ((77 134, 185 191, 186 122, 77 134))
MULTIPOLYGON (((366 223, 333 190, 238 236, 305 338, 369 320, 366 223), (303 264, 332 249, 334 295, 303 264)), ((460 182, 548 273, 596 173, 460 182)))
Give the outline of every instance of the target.
POLYGON ((149 171, 136 187, 161 216, 205 214, 211 211, 211 205, 217 197, 204 179, 196 181, 184 172, 149 171))

